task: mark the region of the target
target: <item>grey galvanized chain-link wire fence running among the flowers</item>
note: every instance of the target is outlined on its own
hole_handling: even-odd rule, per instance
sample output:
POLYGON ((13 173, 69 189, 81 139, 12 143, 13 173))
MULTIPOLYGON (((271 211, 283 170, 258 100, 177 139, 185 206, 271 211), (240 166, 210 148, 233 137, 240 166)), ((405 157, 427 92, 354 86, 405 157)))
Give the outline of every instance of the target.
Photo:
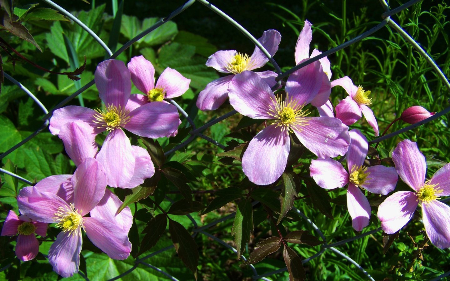
MULTIPOLYGON (((142 37, 146 36, 148 33, 150 33, 151 31, 155 30, 157 27, 160 27, 161 25, 163 25, 165 22, 171 20, 172 18, 174 18, 175 16, 177 16, 178 14, 182 13, 185 9, 189 8, 189 6, 191 6, 196 0, 189 0, 187 1, 184 5, 180 6, 178 9, 176 9, 175 11, 173 11, 172 13, 170 13, 166 18, 161 18, 157 23, 155 23, 152 27, 149 27, 148 29, 146 29, 145 31, 143 31, 142 33, 140 33, 138 36, 135 36, 133 39, 131 39, 130 41, 128 41, 126 44, 124 44, 119 50, 117 50, 117 52, 112 53, 112 51, 108 48, 108 46, 99 38, 99 36, 97 36, 93 31, 90 30, 89 27, 87 27, 83 22, 81 22, 78 18, 76 18, 74 15, 72 15, 71 13, 67 12, 65 9, 63 9, 62 7, 60 7, 58 4, 55 4, 54 2, 52 2, 51 0, 43 0, 45 3, 49 4, 50 6, 52 6, 54 9, 57 9, 58 11, 60 11, 61 13, 63 13, 64 15, 67 16, 67 18, 70 18, 73 22, 76 22, 76 24, 78 24, 79 26, 81 26, 90 36, 92 36, 99 45, 101 45, 103 47, 103 49, 105 50, 106 54, 109 56, 109 59, 112 58, 116 58, 119 54, 121 54, 123 51, 125 51, 128 47, 130 47, 133 43, 135 43, 136 41, 138 41, 139 39, 141 39, 142 37)), ((437 73, 437 76, 439 77, 439 79, 441 79, 441 81, 443 82, 443 84, 446 86, 446 88, 450 91, 450 83, 448 81, 448 79, 446 78, 446 76, 443 74, 443 72, 440 70, 440 68, 437 66, 437 64, 433 61, 433 59, 427 54, 426 51, 424 51, 420 45, 410 36, 408 35, 396 22, 394 22, 391 18, 392 15, 399 13, 401 11, 403 11, 404 9, 407 9, 408 7, 410 7, 411 5, 419 2, 420 0, 411 0, 403 5, 401 5, 400 7, 396 8, 396 9, 389 9, 389 5, 387 4, 387 2, 385 0, 379 0, 380 4, 383 6, 383 9, 385 10, 385 12, 381 15, 381 18, 383 18, 383 20, 377 24, 376 26, 374 26, 373 28, 369 29, 368 31, 365 31, 364 33, 360 34, 359 36, 356 36, 355 38, 343 43, 342 45, 339 45, 333 49, 329 49, 326 52, 323 52, 322 54, 315 56, 313 58, 308 59, 305 62, 300 63, 299 65, 297 65, 296 67, 293 67, 292 69, 282 72, 280 67, 278 66, 277 62, 275 61, 274 58, 272 58, 270 56, 270 54, 267 52, 267 50, 257 41, 257 39, 252 36, 252 34, 250 34, 244 27, 242 27, 241 25, 239 25, 238 22, 234 21, 233 18, 229 17, 227 14, 225 14, 224 12, 222 12, 220 9, 216 8, 214 5, 212 5, 211 3, 207 2, 206 0, 197 0, 198 2, 204 4, 208 9, 211 9, 211 11, 217 13, 220 17, 224 18, 225 21, 229 22, 229 24, 233 25, 234 27, 236 27, 236 29, 238 31, 241 31, 245 36, 247 36, 247 38, 254 43, 255 45, 257 45, 261 51, 267 56, 267 58, 269 58, 270 62, 272 63, 272 65, 275 67, 275 72, 278 73, 278 77, 276 78, 276 80, 281 81, 281 79, 287 77, 288 75, 290 75, 291 73, 293 73, 294 71, 305 67, 306 65, 315 62, 317 60, 319 60, 320 58, 324 58, 326 56, 329 56, 331 54, 336 53, 337 51, 344 49, 348 46, 350 46, 351 44, 354 44, 362 39, 364 39, 365 37, 375 33, 376 31, 380 30, 381 28, 383 28, 385 25, 390 25, 396 32, 398 32, 398 34, 400 34, 407 42, 409 42, 411 44, 412 47, 414 47, 414 49, 416 49, 416 51, 423 57, 426 59, 426 61, 430 64, 430 66, 432 67, 432 69, 437 73)), ((30 96, 34 102, 42 109, 42 111, 46 114, 44 117, 44 123, 42 124, 42 126, 37 129, 34 133, 32 133, 30 136, 28 136, 27 138, 24 138, 20 143, 16 144, 14 147, 11 147, 10 149, 8 149, 6 152, 4 152, 3 154, 0 155, 0 160, 3 159, 5 156, 7 156, 9 153, 13 152, 14 150, 18 149, 18 147, 21 147, 24 143, 27 143, 29 140, 31 140, 32 138, 34 138, 37 134, 39 134, 40 132, 42 132, 44 129, 47 128, 47 126, 49 125, 49 118, 52 115, 52 112, 54 112, 54 110, 63 107, 65 104, 67 104, 69 101, 71 101, 73 98, 75 98, 76 96, 78 96, 79 94, 83 93, 86 89, 88 89, 90 86, 94 85, 94 80, 90 81, 89 83, 87 83, 86 85, 82 86, 80 89, 78 89, 75 93, 73 93, 72 95, 70 95, 69 97, 65 98, 61 103, 59 103, 56 107, 52 108, 50 111, 48 111, 45 106, 40 103, 39 99, 36 98, 25 86, 23 86, 20 82, 18 82, 17 80, 15 80, 13 77, 9 76, 7 73, 4 73, 4 77, 8 80, 10 80, 12 83, 14 83, 15 85, 17 85, 20 89, 22 89, 28 96, 30 96)), ((278 85, 275 85, 274 88, 278 87, 278 85)), ((174 148, 172 148, 171 150, 167 151, 165 154, 169 155, 172 152, 175 152, 183 147, 185 147, 186 145, 188 145, 190 142, 192 142, 195 138, 204 138, 206 139, 208 142, 220 147, 220 148, 225 148, 225 146, 219 142, 217 142, 216 140, 214 140, 213 138, 208 137, 207 135, 202 134, 202 132, 211 127, 212 125, 225 120, 226 118, 233 116, 234 114, 236 114, 236 111, 231 111, 223 116, 217 117, 213 120, 209 120, 205 125, 202 125, 201 127, 197 128, 192 120, 192 118, 183 110, 182 107, 180 107, 180 105, 178 105, 174 100, 170 100, 169 101, 171 104, 173 104, 175 107, 177 107, 177 109, 179 110, 180 114, 182 116, 184 116, 184 118, 189 122, 189 124, 192 126, 192 130, 189 132, 190 136, 188 139, 186 139, 183 143, 180 143, 179 145, 175 146, 174 148)), ((436 120, 437 118, 441 117, 442 115, 447 114, 450 111, 450 107, 447 107, 443 110, 441 110, 440 112, 437 112, 437 114, 429 117, 426 120, 423 120, 421 122, 418 122, 414 125, 410 125, 408 127, 402 128, 400 130, 397 130, 391 134, 387 134, 384 135, 382 137, 379 138, 375 138, 372 141, 370 141, 369 143, 378 143, 381 142, 385 139, 388 138, 392 138, 398 134, 404 133, 406 131, 409 131, 411 129, 414 129, 420 125, 423 125, 425 123, 431 122, 432 120, 436 120)), ((5 169, 1 169, 0 171, 4 174, 9 174, 15 178, 18 178, 19 180, 27 183, 27 184, 32 184, 31 181, 27 180, 26 178, 23 178, 17 174, 14 174, 11 171, 5 170, 5 169)), ((449 201, 449 200, 443 200, 444 202, 449 201)), ((254 202, 253 205, 257 204, 258 202, 254 202)), ((374 280, 368 272, 366 272, 366 270, 364 268, 362 268, 358 263, 356 263, 353 259, 351 259, 351 257, 347 256, 345 253, 342 253, 342 251, 338 250, 336 247, 340 246, 340 245, 344 245, 348 242, 351 241, 355 241, 358 239, 361 239, 365 236, 369 236, 371 234, 374 234, 376 232, 379 232, 381 230, 381 228, 378 229, 374 229, 365 233, 362 233, 360 235, 357 236, 353 236, 350 237, 348 239, 344 239, 342 241, 338 241, 335 242, 333 244, 328 244, 327 243, 327 238, 324 236, 324 234, 321 232, 321 230, 319 229, 319 227, 317 227, 315 225, 315 223, 313 223, 310 219, 308 219, 306 217, 305 214, 303 214, 300 210, 297 210, 294 208, 294 210, 307 222, 311 225, 311 227, 315 230, 315 232, 323 239, 323 241, 325 241, 325 243, 323 245, 321 245, 320 250, 312 255, 311 257, 307 258, 307 259, 303 259, 303 263, 308 263, 311 259, 315 259, 316 257, 326 254, 327 252, 331 251, 334 252, 335 254, 338 254, 340 256, 342 256, 344 259, 346 259, 348 261, 348 263, 351 263, 353 265, 356 266, 356 268, 358 268, 358 270, 360 270, 369 280, 374 280)), ((211 227, 216 226, 218 223, 233 219, 235 216, 235 213, 226 215, 220 219, 217 219, 214 222, 208 223, 204 226, 198 226, 198 224, 196 223, 196 221, 190 216, 187 215, 187 217, 190 219, 190 221, 192 222, 192 228, 190 229, 193 232, 192 236, 196 236, 198 234, 207 236, 209 238, 211 238, 213 241, 216 241, 218 244, 220 244, 221 246, 223 246, 226 249, 230 250, 230 254, 231 253, 237 253, 237 250, 230 246, 229 244, 227 244, 225 241, 220 240, 219 238, 217 238, 216 236, 212 235, 211 233, 208 232, 208 230, 211 227)), ((171 280, 178 280, 176 279, 174 276, 172 276, 169 272, 165 272, 160 268, 157 268, 155 266, 153 266, 152 264, 146 263, 145 260, 160 254, 162 252, 165 252, 167 250, 170 250, 173 248, 173 245, 168 246, 166 248, 163 248, 161 250, 157 250, 151 254, 148 254, 142 258, 136 259, 135 260, 135 264, 132 268, 130 268, 129 270, 127 270, 126 272, 121 273, 120 275, 118 275, 117 277, 112 278, 111 280, 116 280, 119 279, 127 274, 129 274, 130 272, 132 272, 133 270, 135 270, 139 264, 144 265, 148 268, 152 268, 153 270, 155 270, 156 272, 160 272, 163 275, 165 275, 166 277, 168 277, 171 280)), ((242 259, 245 261, 246 257, 242 256, 242 259)), ((252 269, 253 272, 253 276, 252 278, 257 280, 257 279, 262 279, 262 280, 269 280, 266 277, 269 277, 271 275, 274 275, 276 273, 279 272, 284 272, 287 270, 287 268, 280 268, 279 270, 276 271, 272 271, 272 272, 267 272, 264 274, 259 274, 257 272, 257 269, 250 264, 249 265, 250 268, 252 269)), ((4 268, 0 269, 0 272, 5 270, 6 268, 8 268, 9 266, 6 266, 4 268)), ((84 274, 82 272, 79 272, 79 274, 84 277, 86 280, 89 280, 87 277, 84 276, 84 274)), ((444 278, 446 276, 450 275, 450 271, 449 272, 445 272, 444 274, 442 274, 439 277, 436 277, 432 280, 440 280, 441 278, 444 278)))

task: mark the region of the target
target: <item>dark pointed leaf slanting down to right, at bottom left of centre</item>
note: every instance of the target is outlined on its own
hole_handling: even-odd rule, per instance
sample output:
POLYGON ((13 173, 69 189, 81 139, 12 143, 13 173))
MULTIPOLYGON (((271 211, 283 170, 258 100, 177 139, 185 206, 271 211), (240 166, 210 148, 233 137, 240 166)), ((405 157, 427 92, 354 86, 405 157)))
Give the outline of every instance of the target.
POLYGON ((169 219, 169 232, 176 253, 183 263, 194 273, 197 280, 198 246, 189 232, 180 223, 169 219))

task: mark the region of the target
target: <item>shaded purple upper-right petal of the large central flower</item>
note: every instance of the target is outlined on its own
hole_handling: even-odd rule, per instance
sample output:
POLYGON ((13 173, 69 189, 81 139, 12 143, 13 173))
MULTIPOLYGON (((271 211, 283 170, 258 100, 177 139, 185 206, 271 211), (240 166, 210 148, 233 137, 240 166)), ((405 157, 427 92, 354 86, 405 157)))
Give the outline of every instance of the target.
MULTIPOLYGON (((285 91, 290 97, 295 98, 299 104, 306 105, 319 94, 324 77, 326 77, 326 75, 324 74, 324 71, 322 71, 320 62, 313 62, 306 67, 300 68, 289 76, 288 81, 286 82, 285 91)), ((319 106, 326 103, 327 100, 328 97, 326 97, 319 106)))

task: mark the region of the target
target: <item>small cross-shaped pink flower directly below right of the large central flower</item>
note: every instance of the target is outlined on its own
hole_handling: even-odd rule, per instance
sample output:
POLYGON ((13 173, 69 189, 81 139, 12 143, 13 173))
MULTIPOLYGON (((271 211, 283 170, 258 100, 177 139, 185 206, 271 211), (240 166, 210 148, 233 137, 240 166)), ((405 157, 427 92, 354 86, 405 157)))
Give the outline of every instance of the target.
POLYGON ((351 225, 361 231, 369 224, 369 201, 360 188, 369 192, 386 195, 396 187, 398 175, 394 167, 375 165, 364 166, 364 159, 369 150, 367 139, 357 129, 350 131, 351 143, 347 152, 347 169, 333 159, 311 161, 310 174, 322 188, 334 189, 348 183, 347 209, 351 216, 351 225))

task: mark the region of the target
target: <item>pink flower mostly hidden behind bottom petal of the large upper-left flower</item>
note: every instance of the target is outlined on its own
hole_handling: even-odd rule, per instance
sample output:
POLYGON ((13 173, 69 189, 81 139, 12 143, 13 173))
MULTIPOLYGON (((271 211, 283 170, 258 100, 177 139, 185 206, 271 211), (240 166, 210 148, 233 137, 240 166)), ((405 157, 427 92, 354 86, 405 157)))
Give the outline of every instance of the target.
MULTIPOLYGON (((103 146, 98 152, 94 129, 84 121, 76 120, 64 124, 58 136, 64 143, 67 155, 76 166, 83 163, 87 158, 96 158, 97 160, 103 158, 103 161, 107 158, 108 147, 103 146)), ((118 186, 121 188, 137 187, 144 183, 146 178, 151 178, 155 174, 155 168, 148 152, 135 145, 132 145, 131 149, 132 156, 135 158, 134 172, 129 182, 118 186)), ((105 172, 109 186, 121 182, 122 174, 114 173, 111 170, 105 170, 105 172)))

